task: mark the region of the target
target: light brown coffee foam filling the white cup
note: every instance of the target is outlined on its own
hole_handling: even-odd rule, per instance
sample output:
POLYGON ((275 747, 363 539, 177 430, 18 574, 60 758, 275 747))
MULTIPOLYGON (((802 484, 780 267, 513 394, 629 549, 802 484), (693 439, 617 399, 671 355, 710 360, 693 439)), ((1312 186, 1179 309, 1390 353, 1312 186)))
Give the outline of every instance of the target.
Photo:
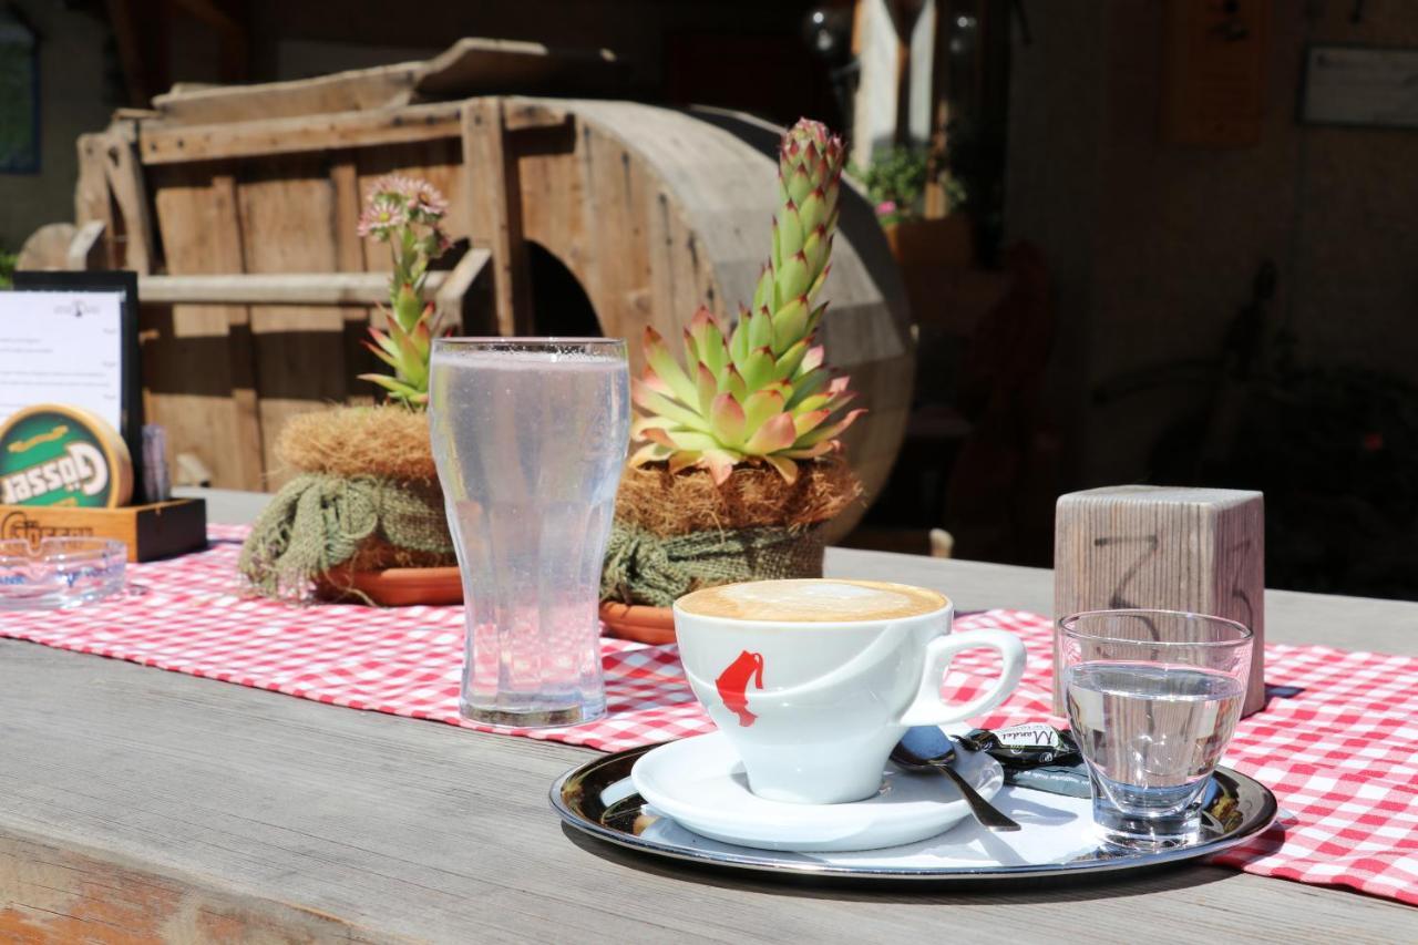
POLYGON ((851 623, 899 620, 943 609, 944 595, 881 580, 754 580, 705 587, 681 597, 681 610, 730 620, 851 623))

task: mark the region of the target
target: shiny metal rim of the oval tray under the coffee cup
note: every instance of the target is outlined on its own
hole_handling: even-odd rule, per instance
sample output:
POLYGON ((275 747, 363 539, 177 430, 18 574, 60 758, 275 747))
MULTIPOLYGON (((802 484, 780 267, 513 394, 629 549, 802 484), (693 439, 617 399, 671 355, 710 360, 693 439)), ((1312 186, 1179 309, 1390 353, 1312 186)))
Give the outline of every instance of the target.
MULTIPOLYGON (((764 873, 773 875, 803 875, 803 877, 834 877, 834 878, 856 878, 868 881, 917 881, 917 883, 949 883, 949 881, 970 881, 970 880, 1024 880, 1024 878, 1048 878, 1048 877, 1079 877, 1083 874, 1096 873, 1119 873, 1129 870, 1146 870, 1150 867, 1166 866, 1173 863, 1184 863, 1187 860, 1195 860, 1200 857, 1211 856, 1219 853, 1228 847, 1234 847, 1244 843, 1271 827, 1279 814, 1279 802, 1269 788, 1248 778, 1241 772, 1229 768, 1217 768, 1217 775, 1228 782, 1231 782, 1236 792, 1245 792, 1246 795, 1254 795, 1261 803, 1259 809, 1255 810, 1249 817, 1246 817, 1239 826, 1225 836, 1217 837, 1214 840, 1198 843, 1191 847, 1181 847, 1176 850, 1159 850, 1156 853, 1136 854, 1136 856, 1119 856, 1116 858, 1106 860, 1086 860, 1075 863, 1041 863, 1041 864, 1025 864, 1025 866, 978 866, 978 867, 856 867, 856 866, 839 866, 831 863, 804 863, 798 860, 773 863, 767 857, 771 851, 761 851, 761 856, 739 856, 733 853, 720 851, 706 851, 693 850, 688 847, 678 847, 665 843, 658 843, 654 840, 642 840, 634 834, 627 834, 621 830, 607 827, 598 820, 593 820, 576 810, 566 799, 566 785, 573 779, 584 780, 587 776, 593 775, 601 768, 611 765, 624 765, 640 758, 645 752, 658 745, 647 745, 642 748, 631 748, 627 751, 615 752, 611 755, 604 755, 601 758, 591 759, 584 765, 579 765, 571 770, 563 773, 552 785, 550 802, 552 807, 560 814, 562 820, 570 827, 580 830, 581 833, 613 843, 618 847, 634 850, 637 853, 651 854, 657 857, 664 857, 669 860, 679 860, 685 863, 695 863, 706 867, 732 867, 737 870, 747 870, 753 873, 764 873)), ((627 769, 628 773, 628 769, 627 769)), ((617 782, 621 780, 620 778, 617 782)))

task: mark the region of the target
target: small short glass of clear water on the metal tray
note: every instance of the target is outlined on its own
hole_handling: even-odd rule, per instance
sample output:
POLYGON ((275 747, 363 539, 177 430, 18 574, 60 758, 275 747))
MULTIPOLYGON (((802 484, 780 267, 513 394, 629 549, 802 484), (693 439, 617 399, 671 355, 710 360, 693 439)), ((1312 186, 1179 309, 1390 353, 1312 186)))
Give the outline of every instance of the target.
POLYGON ((1141 850, 1195 841, 1245 702, 1251 630, 1174 610, 1095 610, 1061 620, 1059 643, 1105 839, 1141 850))

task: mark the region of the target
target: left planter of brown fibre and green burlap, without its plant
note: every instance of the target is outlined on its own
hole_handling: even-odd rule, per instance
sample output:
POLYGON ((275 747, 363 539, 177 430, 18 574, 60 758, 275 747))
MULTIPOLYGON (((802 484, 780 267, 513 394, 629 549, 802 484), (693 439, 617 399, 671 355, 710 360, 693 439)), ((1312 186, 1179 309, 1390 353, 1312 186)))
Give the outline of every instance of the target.
POLYGON ((262 595, 369 603, 461 599, 428 419, 398 406, 339 407, 286 423, 277 457, 298 474, 257 518, 240 569, 262 595), (401 575, 398 593, 387 580, 401 575), (414 590, 417 587, 417 590, 414 590))

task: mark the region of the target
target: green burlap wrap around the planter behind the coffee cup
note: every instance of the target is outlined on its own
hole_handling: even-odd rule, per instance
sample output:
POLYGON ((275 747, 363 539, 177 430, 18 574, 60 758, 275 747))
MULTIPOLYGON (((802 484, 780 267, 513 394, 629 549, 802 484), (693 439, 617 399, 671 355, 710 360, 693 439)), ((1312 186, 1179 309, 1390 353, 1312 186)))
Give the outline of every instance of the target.
POLYGON ((696 587, 822 576, 822 532, 742 528, 661 536, 617 521, 605 548, 601 600, 668 607, 696 587))

